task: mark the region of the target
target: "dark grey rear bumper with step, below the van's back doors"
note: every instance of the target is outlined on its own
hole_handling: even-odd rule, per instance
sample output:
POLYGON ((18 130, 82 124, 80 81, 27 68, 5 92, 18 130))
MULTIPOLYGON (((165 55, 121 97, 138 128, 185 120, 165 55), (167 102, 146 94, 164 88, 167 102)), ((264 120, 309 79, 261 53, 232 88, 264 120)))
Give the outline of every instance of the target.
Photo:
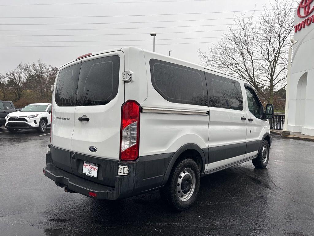
POLYGON ((145 156, 142 157, 142 160, 139 158, 137 161, 132 162, 119 161, 118 165, 128 166, 129 173, 127 176, 120 176, 118 175, 117 168, 114 176, 114 186, 96 183, 55 166, 50 152, 46 153, 47 166, 43 172, 46 177, 53 180, 59 187, 66 187, 68 190, 88 197, 91 197, 89 196, 89 192, 97 194, 96 197, 91 198, 116 200, 162 187, 165 171, 171 156, 171 154, 162 156, 154 155, 145 156), (158 172, 152 171, 152 168, 155 168, 158 172))

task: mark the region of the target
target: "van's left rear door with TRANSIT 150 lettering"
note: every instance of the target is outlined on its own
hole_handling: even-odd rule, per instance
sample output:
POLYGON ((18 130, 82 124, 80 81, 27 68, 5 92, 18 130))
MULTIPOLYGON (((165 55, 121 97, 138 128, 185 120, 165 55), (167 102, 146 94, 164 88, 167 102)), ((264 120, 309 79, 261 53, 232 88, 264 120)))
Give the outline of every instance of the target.
POLYGON ((76 91, 81 60, 60 68, 52 96, 51 153, 53 163, 68 172, 71 169, 71 138, 74 129, 76 91))

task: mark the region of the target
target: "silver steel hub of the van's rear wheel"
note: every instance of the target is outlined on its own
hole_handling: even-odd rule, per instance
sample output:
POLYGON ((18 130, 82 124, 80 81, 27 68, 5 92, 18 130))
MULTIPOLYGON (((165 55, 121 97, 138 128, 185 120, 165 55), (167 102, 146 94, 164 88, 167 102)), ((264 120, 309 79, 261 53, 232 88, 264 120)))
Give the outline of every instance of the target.
POLYGON ((195 189, 196 178, 191 168, 185 168, 181 171, 177 181, 177 194, 181 201, 189 200, 195 189))

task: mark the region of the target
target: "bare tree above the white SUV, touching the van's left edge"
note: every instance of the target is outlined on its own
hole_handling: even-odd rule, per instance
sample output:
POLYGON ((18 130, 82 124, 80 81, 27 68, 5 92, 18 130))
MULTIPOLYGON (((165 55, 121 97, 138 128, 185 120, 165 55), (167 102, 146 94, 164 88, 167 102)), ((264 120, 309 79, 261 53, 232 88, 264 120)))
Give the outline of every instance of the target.
POLYGON ((51 84, 56 78, 58 69, 45 65, 40 60, 37 63, 25 64, 26 82, 25 85, 32 89, 40 100, 51 96, 51 84))

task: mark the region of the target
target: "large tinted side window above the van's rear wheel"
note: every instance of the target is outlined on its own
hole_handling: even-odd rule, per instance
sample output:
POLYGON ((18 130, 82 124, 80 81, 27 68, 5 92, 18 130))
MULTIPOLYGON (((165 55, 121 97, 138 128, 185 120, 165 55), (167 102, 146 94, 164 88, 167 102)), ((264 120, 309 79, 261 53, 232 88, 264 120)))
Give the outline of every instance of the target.
POLYGON ((156 59, 149 66, 154 89, 167 101, 207 106, 203 71, 156 59))

